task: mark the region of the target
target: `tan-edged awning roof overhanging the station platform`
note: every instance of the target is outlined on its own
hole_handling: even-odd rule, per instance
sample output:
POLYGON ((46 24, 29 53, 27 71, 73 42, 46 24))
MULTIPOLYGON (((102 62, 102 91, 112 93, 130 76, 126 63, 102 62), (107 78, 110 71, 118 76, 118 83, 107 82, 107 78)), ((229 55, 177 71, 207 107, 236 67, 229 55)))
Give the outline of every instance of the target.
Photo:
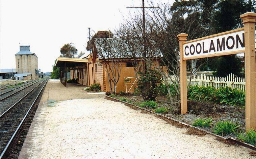
POLYGON ((88 63, 88 59, 58 57, 55 66, 60 67, 65 63, 67 67, 76 67, 88 63))

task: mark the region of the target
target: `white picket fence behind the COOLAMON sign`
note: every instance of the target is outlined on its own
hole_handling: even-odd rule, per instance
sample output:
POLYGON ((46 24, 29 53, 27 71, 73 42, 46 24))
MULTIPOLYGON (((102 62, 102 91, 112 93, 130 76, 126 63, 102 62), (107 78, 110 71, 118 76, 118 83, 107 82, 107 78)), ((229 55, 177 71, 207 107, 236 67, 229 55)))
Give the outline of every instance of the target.
MULTIPOLYGON (((168 78, 168 83, 172 84, 172 81, 170 78, 173 80, 177 76, 170 76, 168 78)), ((189 76, 187 76, 187 84, 190 85, 198 85, 198 86, 213 86, 215 88, 220 88, 220 87, 232 87, 232 88, 237 88, 240 90, 245 91, 245 78, 240 78, 240 77, 235 77, 235 75, 230 74, 227 77, 214 77, 214 76, 206 76, 204 74, 199 75, 199 76, 192 76, 191 81, 189 80, 189 76)))

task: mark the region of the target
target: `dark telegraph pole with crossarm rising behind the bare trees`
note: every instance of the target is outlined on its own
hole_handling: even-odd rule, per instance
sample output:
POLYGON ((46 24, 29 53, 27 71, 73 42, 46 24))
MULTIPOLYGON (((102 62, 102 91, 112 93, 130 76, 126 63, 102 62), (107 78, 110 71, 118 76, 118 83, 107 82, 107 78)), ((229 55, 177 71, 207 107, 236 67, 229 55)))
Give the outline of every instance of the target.
MULTIPOLYGON (((154 0, 152 0, 152 6, 151 7, 145 7, 144 0, 142 0, 142 7, 134 7, 133 6, 133 0, 132 0, 132 6, 126 7, 126 8, 142 8, 142 15, 143 15, 143 56, 144 58, 147 57, 146 53, 146 27, 145 27, 145 8, 159 8, 159 7, 154 7, 154 0)), ((147 65, 146 62, 144 61, 144 73, 147 72, 147 65)))

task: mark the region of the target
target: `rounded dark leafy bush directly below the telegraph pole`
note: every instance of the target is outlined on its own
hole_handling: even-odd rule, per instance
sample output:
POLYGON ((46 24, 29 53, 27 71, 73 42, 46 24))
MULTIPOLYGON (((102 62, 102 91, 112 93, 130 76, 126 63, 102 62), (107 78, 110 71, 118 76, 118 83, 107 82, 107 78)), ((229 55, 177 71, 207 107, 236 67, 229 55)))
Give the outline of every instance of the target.
POLYGON ((144 101, 155 101, 159 93, 157 86, 162 83, 162 76, 154 69, 147 69, 147 72, 139 72, 140 79, 137 82, 137 89, 144 101))

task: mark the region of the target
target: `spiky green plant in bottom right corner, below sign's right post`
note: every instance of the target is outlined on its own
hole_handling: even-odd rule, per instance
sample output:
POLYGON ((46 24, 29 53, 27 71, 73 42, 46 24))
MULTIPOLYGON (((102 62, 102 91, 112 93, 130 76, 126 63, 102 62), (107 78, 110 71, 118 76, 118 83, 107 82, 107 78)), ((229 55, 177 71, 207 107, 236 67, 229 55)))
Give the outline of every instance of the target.
POLYGON ((256 131, 253 128, 245 133, 237 134, 237 138, 251 145, 256 145, 256 131))

